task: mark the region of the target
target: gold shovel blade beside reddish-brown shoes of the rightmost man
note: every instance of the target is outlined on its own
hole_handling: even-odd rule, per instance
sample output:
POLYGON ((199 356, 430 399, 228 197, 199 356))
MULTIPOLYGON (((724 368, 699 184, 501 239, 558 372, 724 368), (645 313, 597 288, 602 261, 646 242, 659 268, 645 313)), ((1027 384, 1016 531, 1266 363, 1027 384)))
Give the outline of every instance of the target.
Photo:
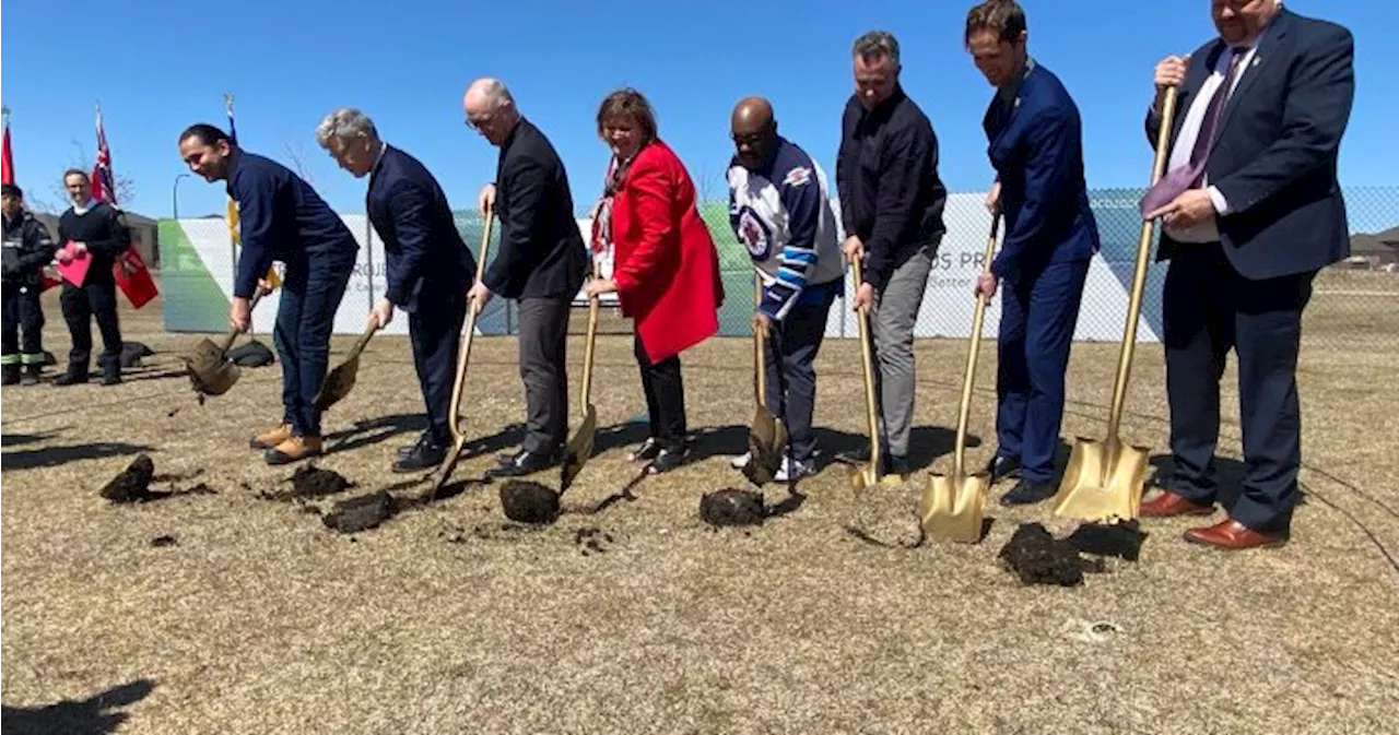
POLYGON ((1147 454, 1147 447, 1118 443, 1114 453, 1105 442, 1076 439, 1053 497, 1055 516, 1087 523, 1136 518, 1142 510, 1147 454))

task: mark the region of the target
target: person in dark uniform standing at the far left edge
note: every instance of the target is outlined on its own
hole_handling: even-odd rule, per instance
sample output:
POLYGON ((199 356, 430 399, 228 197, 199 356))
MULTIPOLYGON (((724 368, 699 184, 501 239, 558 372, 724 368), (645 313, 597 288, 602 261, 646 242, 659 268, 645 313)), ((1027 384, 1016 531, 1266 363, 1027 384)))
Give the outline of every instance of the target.
POLYGON ((49 228, 24 211, 24 191, 15 184, 0 184, 0 386, 39 381, 43 369, 39 271, 56 250, 49 228))

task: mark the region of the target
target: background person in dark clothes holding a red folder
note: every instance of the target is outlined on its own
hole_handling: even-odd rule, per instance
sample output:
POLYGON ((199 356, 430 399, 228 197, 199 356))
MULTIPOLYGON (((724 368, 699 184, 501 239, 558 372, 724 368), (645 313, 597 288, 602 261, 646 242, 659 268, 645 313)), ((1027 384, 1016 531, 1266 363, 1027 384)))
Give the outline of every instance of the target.
POLYGON ((102 366, 102 384, 115 386, 122 381, 122 327, 116 317, 116 277, 112 274, 112 264, 132 247, 132 231, 120 210, 92 198, 92 182, 87 173, 66 170, 63 187, 67 189, 73 207, 59 217, 57 257, 66 261, 71 256, 87 253, 92 261, 81 286, 63 281, 59 303, 73 337, 73 349, 69 351, 67 370, 53 384, 87 383, 95 319, 98 331, 102 333, 102 355, 97 359, 102 366), (71 250, 67 243, 73 243, 71 250))

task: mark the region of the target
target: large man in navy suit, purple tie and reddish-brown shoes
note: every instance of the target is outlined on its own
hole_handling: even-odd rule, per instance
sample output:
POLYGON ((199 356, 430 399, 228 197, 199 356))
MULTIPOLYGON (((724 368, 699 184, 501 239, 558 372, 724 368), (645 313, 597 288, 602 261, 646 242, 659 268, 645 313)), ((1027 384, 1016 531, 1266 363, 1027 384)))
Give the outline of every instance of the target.
POLYGON ((1179 88, 1167 176, 1143 198, 1163 217, 1167 394, 1174 474, 1143 516, 1213 513, 1219 380, 1238 355, 1242 495, 1186 541, 1223 549, 1287 541, 1301 465, 1297 351, 1316 271, 1349 252, 1336 154, 1354 98, 1340 25, 1279 0, 1214 0, 1212 39, 1156 67, 1150 140, 1179 88), (1213 133, 1213 134, 1212 134, 1213 133))

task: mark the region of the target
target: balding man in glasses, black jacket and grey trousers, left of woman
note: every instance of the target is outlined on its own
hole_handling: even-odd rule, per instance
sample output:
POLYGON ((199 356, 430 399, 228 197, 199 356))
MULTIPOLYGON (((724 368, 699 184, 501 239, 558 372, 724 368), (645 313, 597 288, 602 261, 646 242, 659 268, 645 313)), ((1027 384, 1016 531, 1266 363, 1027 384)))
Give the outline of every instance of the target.
POLYGON ((520 450, 502 456, 491 476, 554 467, 568 433, 565 345, 568 310, 588 272, 588 252, 568 175, 548 138, 520 116, 498 80, 471 82, 462 101, 466 123, 501 150, 495 182, 481 189, 481 211, 501 221, 499 249, 467 298, 492 293, 519 300, 520 379, 526 422, 520 450))

